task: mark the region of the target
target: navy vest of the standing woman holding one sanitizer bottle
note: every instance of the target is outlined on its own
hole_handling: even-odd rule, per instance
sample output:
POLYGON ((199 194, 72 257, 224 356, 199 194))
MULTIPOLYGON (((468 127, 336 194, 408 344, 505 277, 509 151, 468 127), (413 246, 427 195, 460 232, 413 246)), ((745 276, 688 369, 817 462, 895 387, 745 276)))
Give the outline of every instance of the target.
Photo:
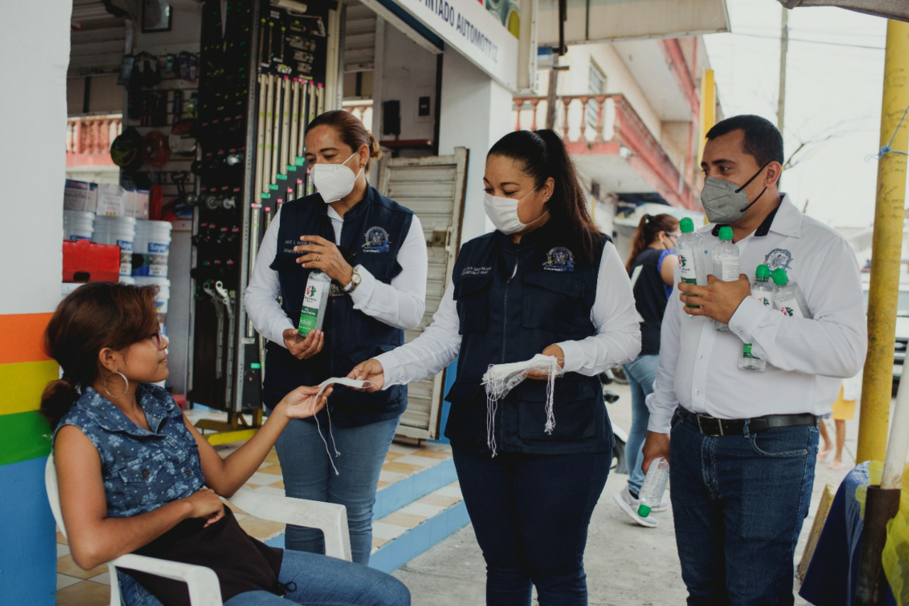
MULTIPOLYGON (((360 264, 375 279, 391 283, 401 273, 397 254, 404 243, 414 213, 367 187, 365 198, 344 215, 339 249, 351 265, 360 264)), ((284 205, 278 230, 277 252, 271 268, 278 273, 281 301, 296 326, 310 270, 295 259, 301 235, 321 235, 335 242, 328 205, 318 194, 284 205)), ((268 343, 265 356, 265 406, 273 408, 287 392, 300 385, 316 385, 334 376, 346 376, 356 364, 404 343, 404 331, 379 322, 354 309, 349 296, 329 297, 325 312, 325 347, 306 360, 297 360, 283 345, 268 343)), ((395 418, 407 406, 407 389, 395 386, 383 392, 355 392, 335 387, 329 398, 332 421, 339 427, 356 427, 395 418)), ((325 414, 325 411, 320 412, 325 414)))

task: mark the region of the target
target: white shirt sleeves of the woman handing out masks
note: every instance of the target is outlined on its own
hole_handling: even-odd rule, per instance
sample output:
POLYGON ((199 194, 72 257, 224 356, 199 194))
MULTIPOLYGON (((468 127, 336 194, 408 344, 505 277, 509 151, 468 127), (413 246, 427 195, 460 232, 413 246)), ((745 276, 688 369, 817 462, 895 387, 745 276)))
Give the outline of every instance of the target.
MULTIPOLYGON (((634 360, 641 351, 641 329, 634 311, 631 282, 612 243, 604 247, 590 321, 596 329, 593 336, 556 343, 564 352, 566 373, 592 376, 634 360)), ((461 347, 459 324, 454 289, 449 283, 433 323, 424 333, 376 358, 385 370, 385 389, 432 376, 452 363, 461 347)))

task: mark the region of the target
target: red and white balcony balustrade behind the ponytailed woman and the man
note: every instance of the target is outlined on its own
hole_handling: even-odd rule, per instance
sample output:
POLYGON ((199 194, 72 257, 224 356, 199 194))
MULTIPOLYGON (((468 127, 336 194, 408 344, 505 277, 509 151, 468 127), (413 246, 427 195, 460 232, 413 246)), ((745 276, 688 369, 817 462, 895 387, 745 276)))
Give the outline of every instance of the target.
MULTIPOLYGON (((514 130, 543 128, 548 104, 544 96, 514 97, 514 130)), ((624 94, 560 95, 554 117, 554 130, 573 152, 617 154, 624 147, 644 161, 664 185, 660 189, 677 196, 677 203, 693 202, 691 184, 680 176, 679 167, 624 94)), ((689 165, 690 159, 685 160, 689 165)))

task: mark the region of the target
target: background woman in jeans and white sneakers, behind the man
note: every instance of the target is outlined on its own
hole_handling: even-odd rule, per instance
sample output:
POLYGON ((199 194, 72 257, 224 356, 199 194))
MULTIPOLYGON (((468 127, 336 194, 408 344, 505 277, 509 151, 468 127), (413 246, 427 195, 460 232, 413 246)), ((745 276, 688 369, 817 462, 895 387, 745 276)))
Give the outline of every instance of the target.
MULTIPOLYGON (((628 442, 625 442, 628 485, 621 492, 616 492, 613 498, 628 517, 648 528, 654 528, 659 522, 653 516, 642 518, 637 514, 637 506, 640 504, 637 493, 644 482, 641 447, 647 435, 647 421, 650 419, 644 400, 654 392, 656 363, 660 353, 660 324, 663 323, 666 302, 673 290, 673 274, 678 264, 678 257, 672 252, 679 236, 678 230, 678 219, 672 215, 644 214, 634 231, 631 253, 625 263, 625 269, 631 276, 638 322, 641 323, 641 353, 634 362, 622 366, 628 377, 628 386, 631 387, 632 406, 631 430, 628 432, 628 442)), ((651 511, 662 512, 668 506, 668 502, 661 502, 651 511)))

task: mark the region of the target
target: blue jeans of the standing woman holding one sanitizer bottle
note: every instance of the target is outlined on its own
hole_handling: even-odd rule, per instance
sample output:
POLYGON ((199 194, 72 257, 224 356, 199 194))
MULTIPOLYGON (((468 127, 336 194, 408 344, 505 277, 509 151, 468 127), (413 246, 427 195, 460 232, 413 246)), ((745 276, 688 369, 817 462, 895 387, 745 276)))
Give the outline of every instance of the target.
MULTIPOLYGON (((287 496, 340 503, 347 508, 350 548, 354 561, 360 564, 369 563, 373 549, 375 490, 397 425, 398 418, 360 427, 334 426, 332 433, 341 453, 334 457, 332 438, 322 422, 322 434, 338 475, 332 469, 315 422, 292 420, 275 443, 287 496)), ((285 548, 325 553, 325 536, 312 528, 288 525, 285 548)))

